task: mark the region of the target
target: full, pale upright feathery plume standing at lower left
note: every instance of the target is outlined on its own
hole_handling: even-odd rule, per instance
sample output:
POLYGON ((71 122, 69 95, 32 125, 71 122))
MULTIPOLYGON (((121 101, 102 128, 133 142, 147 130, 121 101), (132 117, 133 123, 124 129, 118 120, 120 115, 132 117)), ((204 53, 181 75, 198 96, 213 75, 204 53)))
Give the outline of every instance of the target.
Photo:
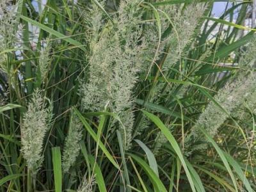
POLYGON ((52 107, 46 106, 42 91, 35 90, 21 125, 21 152, 32 173, 42 164, 44 138, 51 122, 52 107))

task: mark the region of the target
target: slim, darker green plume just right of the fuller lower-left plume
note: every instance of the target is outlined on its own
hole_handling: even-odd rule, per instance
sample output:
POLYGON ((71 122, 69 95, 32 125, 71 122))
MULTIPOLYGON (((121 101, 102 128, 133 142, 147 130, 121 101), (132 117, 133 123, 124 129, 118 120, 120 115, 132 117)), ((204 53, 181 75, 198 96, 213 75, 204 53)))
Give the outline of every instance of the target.
POLYGON ((79 141, 82 139, 83 125, 75 115, 71 115, 68 135, 65 139, 65 148, 62 157, 63 172, 67 173, 79 155, 79 141))

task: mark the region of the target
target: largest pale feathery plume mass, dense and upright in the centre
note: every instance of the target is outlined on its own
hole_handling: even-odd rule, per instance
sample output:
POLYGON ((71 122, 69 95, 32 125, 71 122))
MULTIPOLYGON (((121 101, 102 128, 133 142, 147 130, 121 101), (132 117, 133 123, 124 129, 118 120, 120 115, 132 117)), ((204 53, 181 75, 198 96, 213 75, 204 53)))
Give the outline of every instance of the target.
MULTIPOLYGON (((113 23, 102 26, 99 38, 90 44, 90 79, 82 83, 80 90, 84 109, 100 111, 108 104, 112 112, 122 117, 127 125, 127 145, 131 144, 133 126, 132 92, 138 73, 147 65, 144 59, 148 42, 141 38, 139 4, 137 0, 121 1, 113 23)), ((99 29, 95 30, 99 33, 99 29)))

